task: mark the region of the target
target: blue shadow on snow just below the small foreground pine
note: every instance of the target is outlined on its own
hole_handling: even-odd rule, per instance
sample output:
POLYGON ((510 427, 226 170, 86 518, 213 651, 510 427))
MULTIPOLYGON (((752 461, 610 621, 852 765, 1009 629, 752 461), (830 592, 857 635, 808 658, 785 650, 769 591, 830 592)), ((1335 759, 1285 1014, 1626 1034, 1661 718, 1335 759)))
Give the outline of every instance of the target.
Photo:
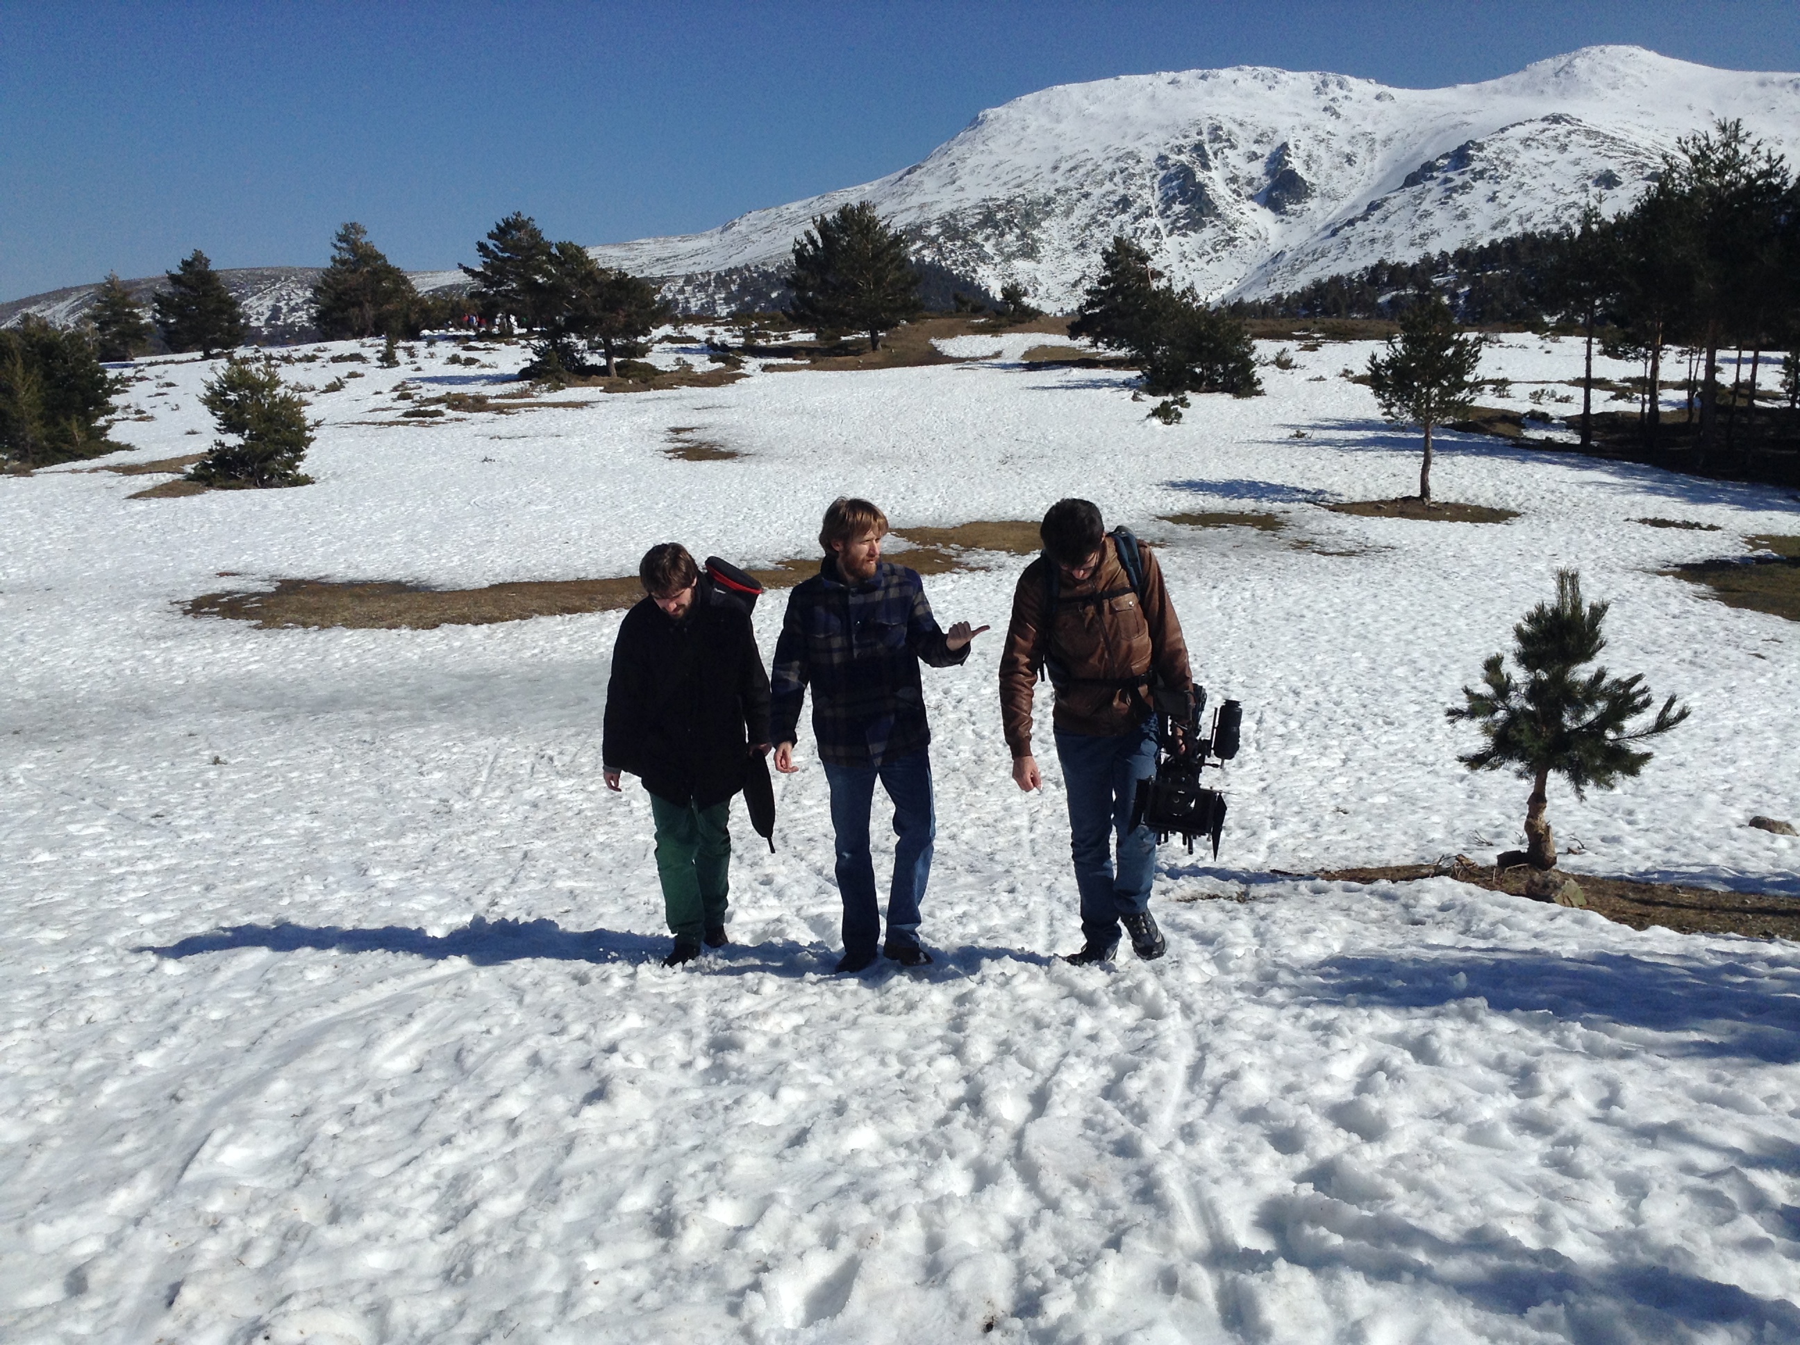
POLYGON ((1800 1062, 1800 969, 1795 967, 1465 949, 1411 958, 1330 958, 1310 969, 1310 979, 1319 1001, 1355 996, 1359 1005, 1438 1008, 1481 997, 1501 1012, 1699 1034, 1656 1043, 1661 1055, 1800 1062))

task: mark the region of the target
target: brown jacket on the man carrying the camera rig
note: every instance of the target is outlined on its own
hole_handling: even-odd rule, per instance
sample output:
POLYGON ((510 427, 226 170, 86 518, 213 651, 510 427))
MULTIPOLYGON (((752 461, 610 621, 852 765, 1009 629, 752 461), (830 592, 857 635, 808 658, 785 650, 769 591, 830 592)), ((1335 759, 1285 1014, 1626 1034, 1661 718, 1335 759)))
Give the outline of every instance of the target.
MULTIPOLYGON (((1166 691, 1192 697, 1188 643, 1163 587, 1156 553, 1138 544, 1143 556, 1143 603, 1132 592, 1109 535, 1105 555, 1085 583, 1058 585, 1051 648, 1071 681, 1057 691, 1055 727, 1062 733, 1116 736, 1145 718, 1145 684, 1150 670, 1166 691), (1091 681, 1089 681, 1091 679, 1091 681), (1136 686, 1120 686, 1141 679, 1136 686)), ((1042 661, 1039 630, 1044 623, 1044 565, 1039 556, 1024 567, 1013 589, 1012 625, 1001 652, 1001 722, 1013 758, 1031 756, 1031 695, 1042 661)))

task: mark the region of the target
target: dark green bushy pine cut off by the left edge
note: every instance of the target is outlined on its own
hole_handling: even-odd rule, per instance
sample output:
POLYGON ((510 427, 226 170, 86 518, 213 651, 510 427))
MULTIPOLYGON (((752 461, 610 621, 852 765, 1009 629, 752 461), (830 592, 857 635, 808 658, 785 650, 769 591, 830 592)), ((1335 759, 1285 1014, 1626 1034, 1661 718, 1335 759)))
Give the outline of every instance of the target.
POLYGON ((112 452, 101 420, 117 387, 85 331, 27 315, 0 331, 0 457, 45 466, 112 452))

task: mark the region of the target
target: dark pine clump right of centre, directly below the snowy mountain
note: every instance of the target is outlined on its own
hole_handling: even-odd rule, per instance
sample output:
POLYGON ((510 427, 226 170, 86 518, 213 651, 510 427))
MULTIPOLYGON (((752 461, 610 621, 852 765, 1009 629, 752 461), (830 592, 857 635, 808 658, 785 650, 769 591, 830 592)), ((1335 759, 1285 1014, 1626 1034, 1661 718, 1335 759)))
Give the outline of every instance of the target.
POLYGON ((1150 414, 1168 425, 1181 420, 1188 393, 1262 394, 1244 319, 1202 304, 1192 286, 1161 283, 1150 254, 1123 236, 1100 254, 1100 275, 1082 295, 1069 335, 1129 351, 1145 391, 1163 398, 1150 414))

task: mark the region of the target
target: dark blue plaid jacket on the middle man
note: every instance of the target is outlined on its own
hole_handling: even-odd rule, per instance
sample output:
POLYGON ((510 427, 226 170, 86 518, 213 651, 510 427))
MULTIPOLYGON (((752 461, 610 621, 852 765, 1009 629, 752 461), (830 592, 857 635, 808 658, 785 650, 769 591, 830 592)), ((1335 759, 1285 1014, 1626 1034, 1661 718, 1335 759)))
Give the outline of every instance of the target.
POLYGON ((864 583, 839 578, 837 558, 788 594, 770 666, 769 718, 774 742, 796 742, 812 682, 812 733, 830 765, 884 765, 931 742, 918 664, 952 668, 954 654, 925 601, 925 585, 905 565, 878 562, 864 583))

